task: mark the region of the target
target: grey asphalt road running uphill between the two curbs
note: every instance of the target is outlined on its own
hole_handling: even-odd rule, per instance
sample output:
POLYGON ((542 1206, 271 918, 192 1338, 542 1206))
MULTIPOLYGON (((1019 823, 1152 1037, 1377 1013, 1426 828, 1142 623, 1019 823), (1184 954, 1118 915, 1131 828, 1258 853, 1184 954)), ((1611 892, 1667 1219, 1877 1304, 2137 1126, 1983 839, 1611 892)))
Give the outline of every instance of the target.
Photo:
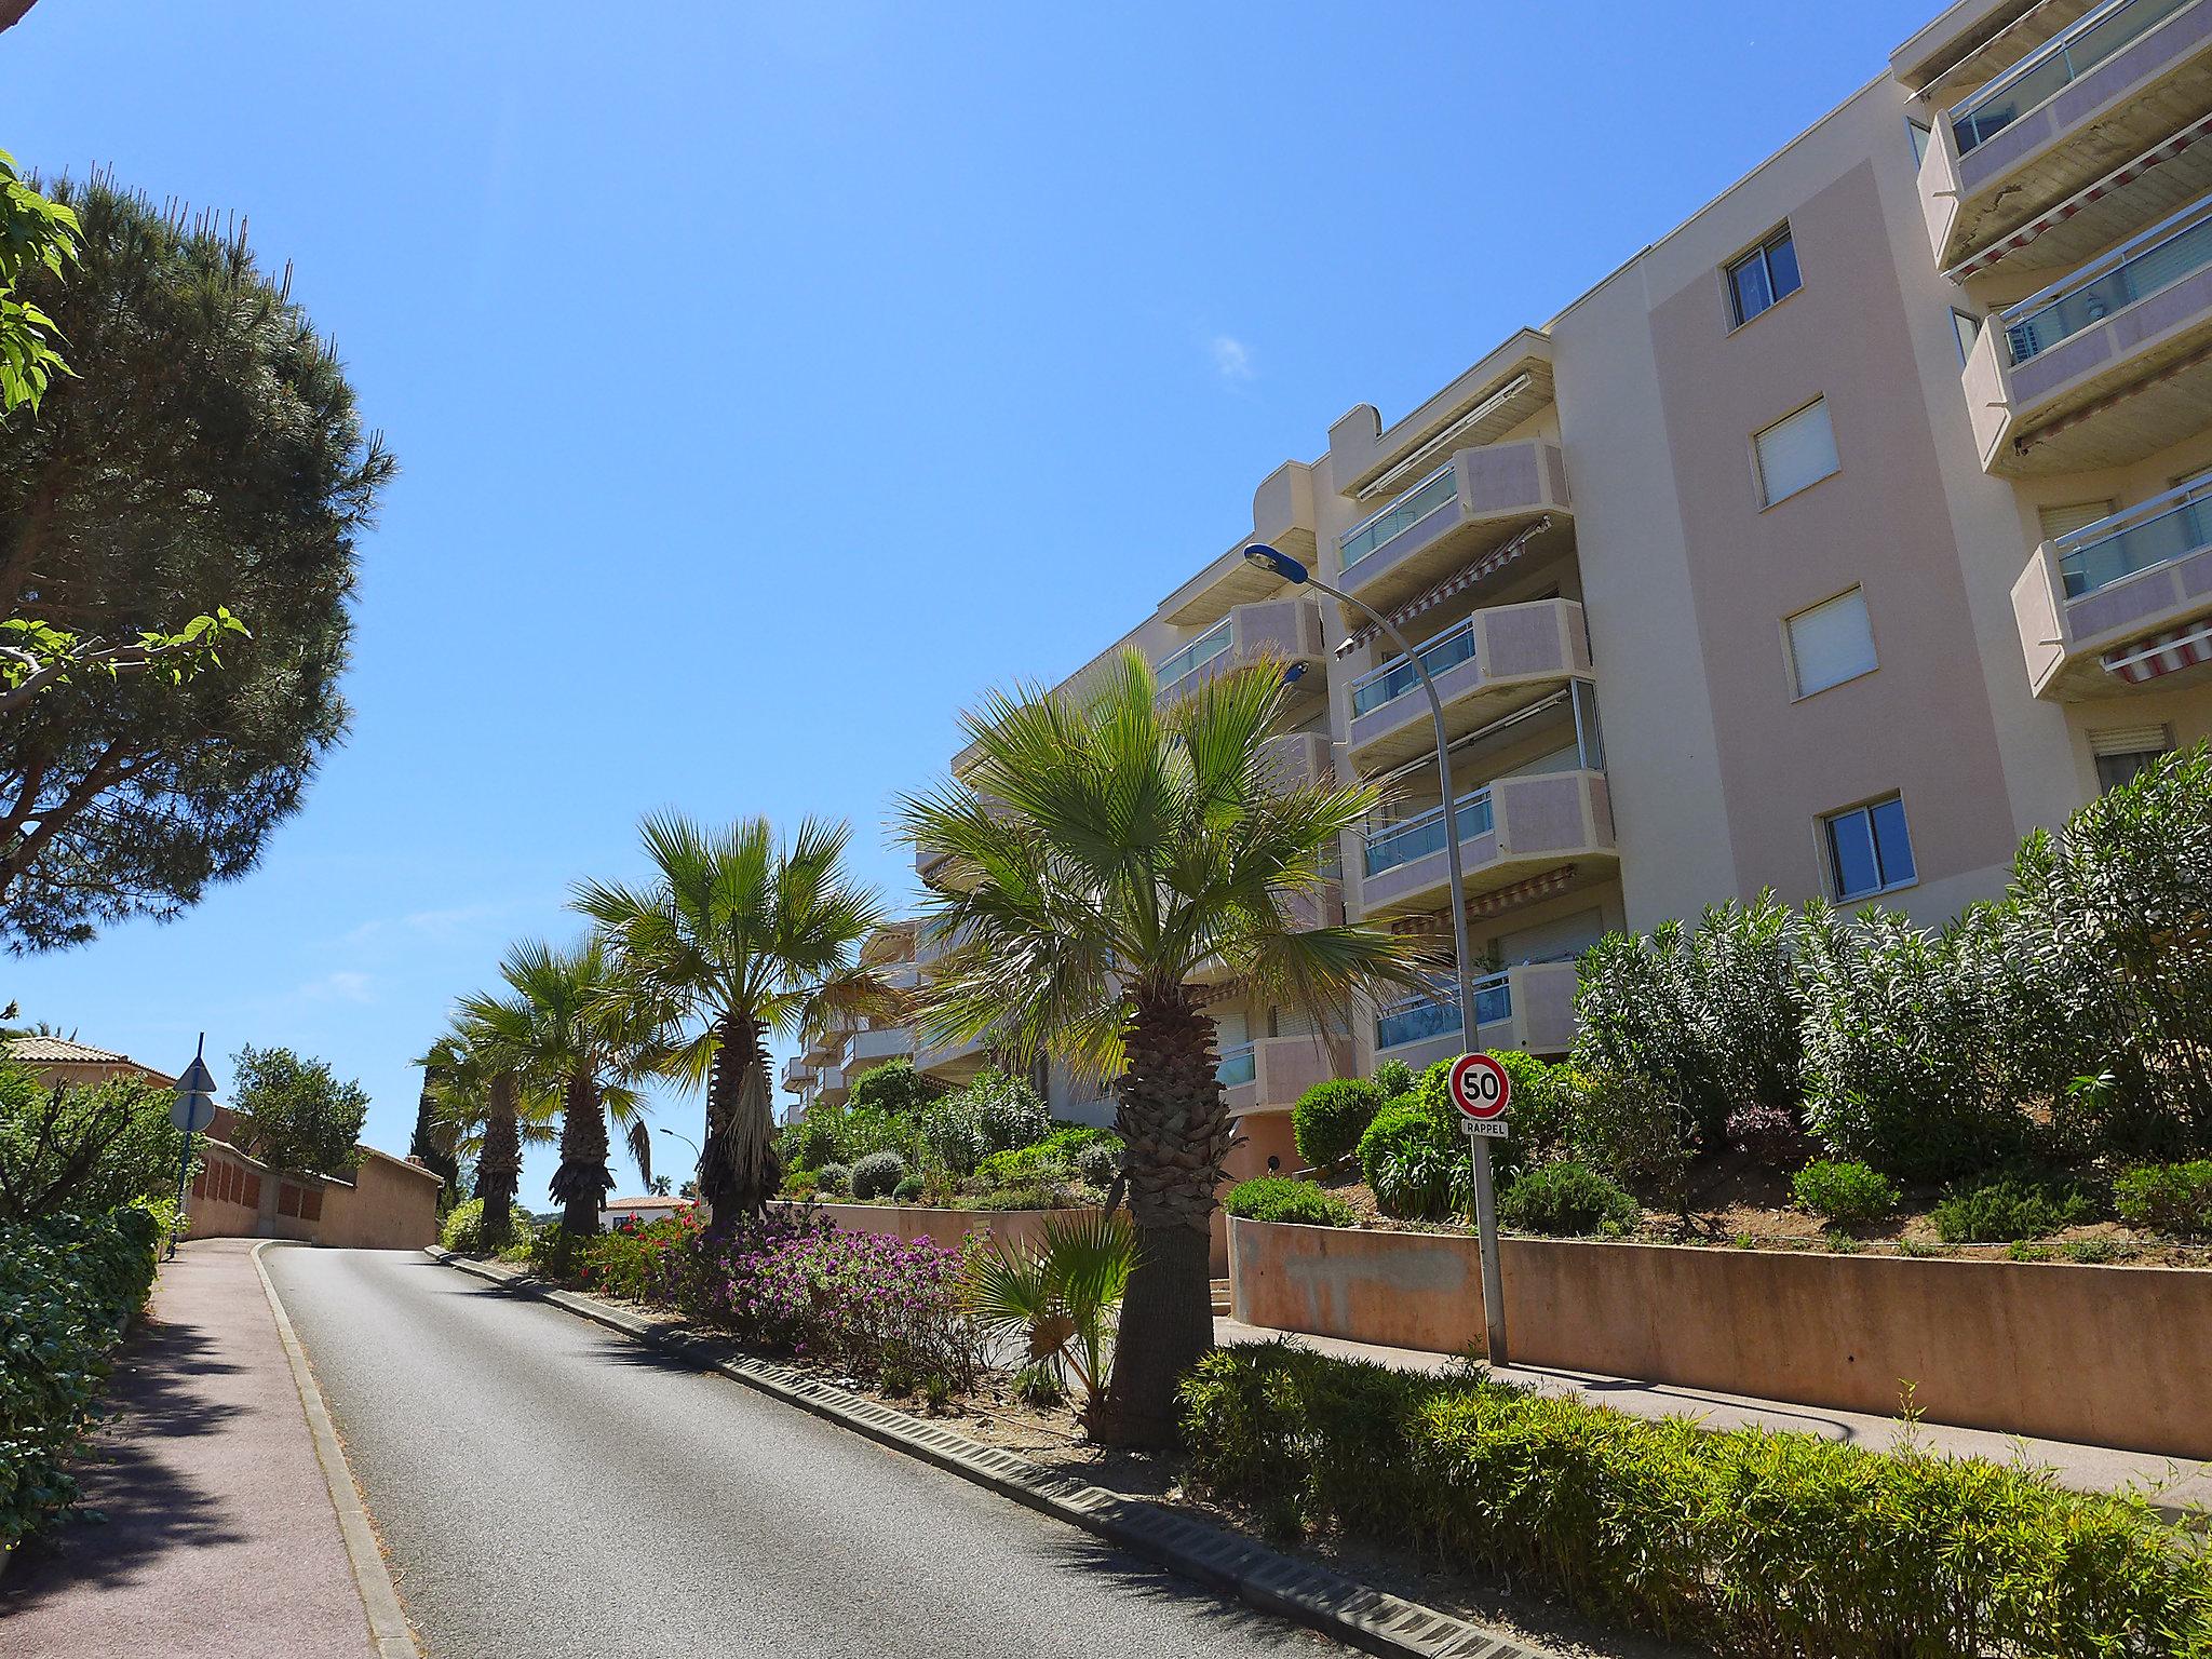
POLYGON ((1345 1652, 427 1256, 263 1259, 429 1659, 1345 1652))

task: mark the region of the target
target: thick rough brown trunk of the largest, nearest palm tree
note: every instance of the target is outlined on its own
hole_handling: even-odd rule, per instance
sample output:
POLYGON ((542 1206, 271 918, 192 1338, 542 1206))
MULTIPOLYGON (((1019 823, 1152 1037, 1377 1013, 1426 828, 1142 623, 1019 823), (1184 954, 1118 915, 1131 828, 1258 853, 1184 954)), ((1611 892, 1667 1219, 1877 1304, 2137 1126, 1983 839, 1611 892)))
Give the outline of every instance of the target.
POLYGON ((1115 1117, 1128 1141, 1137 1265, 1093 1436, 1166 1447, 1177 1431, 1175 1387, 1214 1345, 1208 1261, 1230 1119, 1214 1075, 1214 1022, 1183 987, 1139 993, 1124 1044, 1128 1071, 1115 1084, 1115 1117))

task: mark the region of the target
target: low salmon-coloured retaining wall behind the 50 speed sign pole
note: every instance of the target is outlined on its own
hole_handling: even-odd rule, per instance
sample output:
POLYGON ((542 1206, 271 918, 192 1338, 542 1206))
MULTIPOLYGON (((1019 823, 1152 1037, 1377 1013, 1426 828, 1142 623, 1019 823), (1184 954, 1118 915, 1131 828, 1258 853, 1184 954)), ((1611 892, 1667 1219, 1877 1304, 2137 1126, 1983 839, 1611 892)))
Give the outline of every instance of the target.
MULTIPOLYGON (((1237 1318, 1455 1354, 1475 1241, 1230 1223, 1237 1318)), ((2212 1458, 2212 1272, 1506 1239, 1513 1360, 2212 1458)))

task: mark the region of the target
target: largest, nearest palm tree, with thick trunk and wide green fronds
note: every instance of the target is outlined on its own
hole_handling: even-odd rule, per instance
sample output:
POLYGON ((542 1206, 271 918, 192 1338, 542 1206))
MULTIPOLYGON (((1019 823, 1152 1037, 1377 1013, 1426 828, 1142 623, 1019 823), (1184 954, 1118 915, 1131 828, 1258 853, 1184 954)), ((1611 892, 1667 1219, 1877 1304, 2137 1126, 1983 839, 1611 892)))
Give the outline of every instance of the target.
POLYGON ((1093 690, 993 692, 962 717, 980 757, 900 801, 905 836, 945 863, 922 925, 949 940, 920 1013, 931 1044, 1057 1053, 1113 1079, 1137 1267, 1095 1433, 1166 1444, 1177 1378, 1212 1345, 1208 1239, 1230 1124, 1214 1022, 1192 982, 1225 962, 1261 995, 1343 1015, 1356 993, 1420 987, 1411 940, 1301 927, 1338 836, 1374 787, 1285 785, 1265 752, 1281 668, 1259 664, 1161 703, 1137 653, 1093 690))

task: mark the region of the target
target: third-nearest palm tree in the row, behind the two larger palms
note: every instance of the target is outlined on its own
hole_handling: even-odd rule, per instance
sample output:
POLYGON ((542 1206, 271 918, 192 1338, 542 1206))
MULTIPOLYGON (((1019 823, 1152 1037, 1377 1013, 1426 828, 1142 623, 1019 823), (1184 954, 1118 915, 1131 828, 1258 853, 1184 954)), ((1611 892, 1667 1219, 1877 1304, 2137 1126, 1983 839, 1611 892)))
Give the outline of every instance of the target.
POLYGON ((593 1234, 615 1186, 608 1117, 622 1126, 637 1172, 653 1179, 653 1133, 628 1088, 650 1053, 650 1026, 633 1018, 639 1002, 622 995, 599 938, 571 949, 522 940, 509 947, 500 978, 507 995, 465 998, 462 1013, 484 1033, 495 1082, 504 1075, 522 1095, 560 1097, 553 1201, 562 1206, 562 1232, 593 1234))

